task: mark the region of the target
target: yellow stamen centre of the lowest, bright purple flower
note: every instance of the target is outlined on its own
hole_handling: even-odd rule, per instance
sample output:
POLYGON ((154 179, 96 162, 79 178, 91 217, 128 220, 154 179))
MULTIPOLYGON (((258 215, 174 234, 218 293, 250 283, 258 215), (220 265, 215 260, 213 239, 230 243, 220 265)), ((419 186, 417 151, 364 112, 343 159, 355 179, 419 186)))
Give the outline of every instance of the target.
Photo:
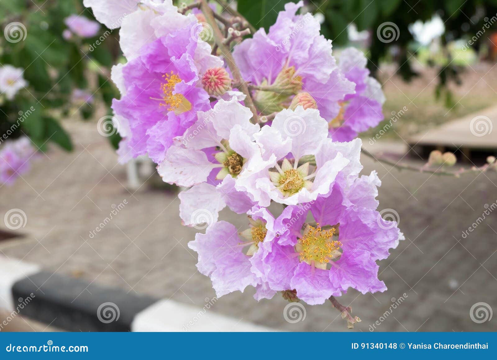
POLYGON ((335 235, 335 228, 322 230, 319 224, 317 227, 308 226, 304 235, 298 242, 297 249, 300 251, 300 260, 311 263, 326 264, 331 259, 339 255, 338 249, 341 242, 332 240, 335 235))

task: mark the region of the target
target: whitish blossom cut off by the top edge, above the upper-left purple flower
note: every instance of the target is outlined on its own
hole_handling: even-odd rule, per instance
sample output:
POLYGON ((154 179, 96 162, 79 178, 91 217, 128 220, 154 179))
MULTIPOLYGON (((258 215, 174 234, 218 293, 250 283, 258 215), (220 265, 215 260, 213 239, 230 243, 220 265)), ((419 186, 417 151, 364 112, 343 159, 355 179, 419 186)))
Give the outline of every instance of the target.
POLYGON ((139 56, 142 46, 197 22, 193 14, 180 14, 171 0, 84 0, 83 4, 108 28, 121 28, 119 44, 128 60, 139 56))

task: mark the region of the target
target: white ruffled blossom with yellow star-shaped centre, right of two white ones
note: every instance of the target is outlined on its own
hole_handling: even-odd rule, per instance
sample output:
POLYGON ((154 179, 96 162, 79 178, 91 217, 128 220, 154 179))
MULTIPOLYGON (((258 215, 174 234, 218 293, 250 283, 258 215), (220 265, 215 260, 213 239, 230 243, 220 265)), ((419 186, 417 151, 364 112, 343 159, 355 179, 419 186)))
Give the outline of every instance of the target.
POLYGON ((360 141, 334 144, 328 123, 316 109, 286 109, 254 134, 262 157, 249 159, 250 171, 235 182, 238 191, 262 207, 271 200, 297 205, 326 195, 339 173, 357 175, 360 141), (345 151, 338 151, 338 149, 345 151))

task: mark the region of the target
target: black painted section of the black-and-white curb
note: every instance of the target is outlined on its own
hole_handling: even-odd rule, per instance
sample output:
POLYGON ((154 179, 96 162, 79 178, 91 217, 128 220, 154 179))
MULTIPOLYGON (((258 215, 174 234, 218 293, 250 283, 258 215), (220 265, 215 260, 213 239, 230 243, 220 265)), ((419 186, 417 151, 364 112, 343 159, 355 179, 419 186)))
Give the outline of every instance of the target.
MULTIPOLYGON (((152 297, 104 288, 83 279, 48 271, 17 281, 12 286, 12 296, 19 314, 69 331, 131 331, 131 323, 136 314, 158 301, 152 297), (41 289, 38 290, 38 287, 41 289), (17 306, 27 302, 29 298, 29 303, 22 309, 17 306), (119 318, 105 323, 99 320, 97 310, 107 302, 117 306, 119 318)), ((103 311, 106 307, 102 306, 100 314, 112 317, 110 311, 103 311)), ((111 307, 114 306, 109 305, 108 310, 111 307)), ((110 320, 102 315, 100 318, 103 321, 110 320)))

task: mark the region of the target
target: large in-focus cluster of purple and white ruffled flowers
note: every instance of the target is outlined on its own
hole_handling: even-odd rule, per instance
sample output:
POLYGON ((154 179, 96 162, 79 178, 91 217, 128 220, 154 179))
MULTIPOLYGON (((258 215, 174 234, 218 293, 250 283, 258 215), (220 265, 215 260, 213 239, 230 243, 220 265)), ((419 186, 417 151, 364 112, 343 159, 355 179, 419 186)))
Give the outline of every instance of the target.
POLYGON ((188 245, 217 296, 250 285, 257 300, 291 290, 322 304, 386 289, 376 261, 403 235, 376 210, 376 172, 360 176, 356 137, 383 119, 384 102, 362 52, 336 60, 319 22, 297 14, 302 1, 246 39, 245 19, 218 22, 226 14, 205 0, 187 15, 170 0, 84 3, 110 28, 124 17, 127 62, 112 70, 120 159, 148 154, 165 182, 187 188, 180 218, 206 229, 188 245), (226 207, 248 215, 245 230, 219 220, 226 207))

